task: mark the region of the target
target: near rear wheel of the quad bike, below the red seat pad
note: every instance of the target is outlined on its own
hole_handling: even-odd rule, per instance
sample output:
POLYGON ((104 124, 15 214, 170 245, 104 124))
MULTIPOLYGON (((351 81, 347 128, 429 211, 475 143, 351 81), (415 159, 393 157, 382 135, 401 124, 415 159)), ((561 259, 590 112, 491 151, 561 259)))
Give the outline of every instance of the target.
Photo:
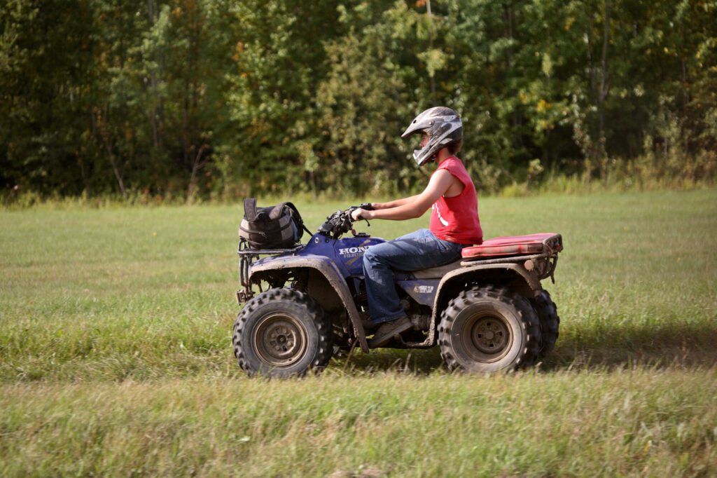
POLYGON ((450 370, 498 372, 530 367, 541 345, 536 311, 508 289, 473 287, 452 299, 439 326, 450 370))

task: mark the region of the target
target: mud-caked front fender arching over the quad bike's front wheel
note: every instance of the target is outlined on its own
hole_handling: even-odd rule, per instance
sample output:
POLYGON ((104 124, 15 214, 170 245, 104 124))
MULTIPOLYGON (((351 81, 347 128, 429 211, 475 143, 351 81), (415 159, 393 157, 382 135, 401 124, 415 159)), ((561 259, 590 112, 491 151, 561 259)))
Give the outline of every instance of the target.
POLYGON ((359 339, 361 350, 365 353, 369 352, 369 345, 366 342, 366 332, 364 332, 364 326, 361 324, 359 310, 356 309, 356 304, 353 302, 353 297, 351 296, 351 291, 348 290, 346 281, 331 259, 324 256, 307 255, 277 257, 272 258, 271 261, 260 261, 252 264, 250 268, 250 281, 256 274, 282 269, 311 269, 326 278, 326 281, 331 285, 333 291, 336 292, 336 296, 338 296, 338 299, 343 303, 343 306, 348 312, 348 318, 351 320, 353 332, 359 339))

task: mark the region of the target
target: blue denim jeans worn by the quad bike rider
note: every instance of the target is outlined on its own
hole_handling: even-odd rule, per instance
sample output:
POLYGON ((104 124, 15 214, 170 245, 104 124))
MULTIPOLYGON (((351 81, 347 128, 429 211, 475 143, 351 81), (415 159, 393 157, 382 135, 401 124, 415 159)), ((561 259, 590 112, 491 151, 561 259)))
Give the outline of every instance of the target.
POLYGON ((389 322, 406 315, 394 284, 393 271, 419 271, 460 258, 467 244, 437 238, 427 229, 372 245, 364 253, 364 276, 373 322, 389 322))

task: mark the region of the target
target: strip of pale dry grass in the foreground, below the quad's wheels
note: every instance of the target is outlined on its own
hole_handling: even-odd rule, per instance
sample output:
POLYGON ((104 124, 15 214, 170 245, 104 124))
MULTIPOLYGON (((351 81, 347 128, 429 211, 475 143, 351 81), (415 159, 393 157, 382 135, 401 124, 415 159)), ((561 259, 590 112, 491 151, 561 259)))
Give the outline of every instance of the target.
POLYGON ((0 473, 708 476, 714 370, 0 387, 0 473))

